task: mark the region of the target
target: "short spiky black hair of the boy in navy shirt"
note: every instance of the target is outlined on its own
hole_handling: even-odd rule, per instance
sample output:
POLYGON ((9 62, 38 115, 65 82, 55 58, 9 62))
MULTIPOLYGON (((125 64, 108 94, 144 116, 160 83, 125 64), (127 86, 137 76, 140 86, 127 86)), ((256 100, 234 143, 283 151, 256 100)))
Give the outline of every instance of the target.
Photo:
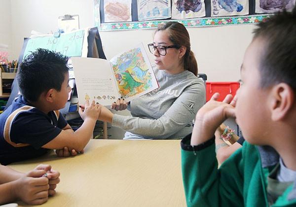
POLYGON ((68 72, 68 57, 38 48, 26 57, 20 65, 17 81, 25 99, 36 102, 43 92, 49 89, 61 91, 68 72))

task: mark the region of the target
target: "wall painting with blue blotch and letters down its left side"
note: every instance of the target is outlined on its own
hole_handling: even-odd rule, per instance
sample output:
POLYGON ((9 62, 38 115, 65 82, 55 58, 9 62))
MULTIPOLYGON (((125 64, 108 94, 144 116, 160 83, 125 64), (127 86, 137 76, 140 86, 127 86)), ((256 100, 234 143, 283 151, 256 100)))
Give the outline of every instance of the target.
POLYGON ((212 0, 211 16, 235 16, 249 14, 249 0, 212 0))

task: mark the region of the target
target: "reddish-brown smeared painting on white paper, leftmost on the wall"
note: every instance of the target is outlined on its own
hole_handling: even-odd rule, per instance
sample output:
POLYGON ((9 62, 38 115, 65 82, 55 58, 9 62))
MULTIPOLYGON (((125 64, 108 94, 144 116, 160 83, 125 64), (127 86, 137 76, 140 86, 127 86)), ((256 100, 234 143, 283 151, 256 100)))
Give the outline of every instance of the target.
POLYGON ((132 21, 132 0, 104 0, 105 22, 132 21))

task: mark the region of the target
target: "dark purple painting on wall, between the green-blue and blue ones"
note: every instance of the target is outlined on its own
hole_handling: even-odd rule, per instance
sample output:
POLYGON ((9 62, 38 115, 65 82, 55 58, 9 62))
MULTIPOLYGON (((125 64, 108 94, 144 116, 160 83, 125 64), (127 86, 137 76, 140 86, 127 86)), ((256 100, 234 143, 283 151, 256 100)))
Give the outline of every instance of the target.
POLYGON ((204 0, 173 0, 172 19, 188 19, 206 16, 204 0))

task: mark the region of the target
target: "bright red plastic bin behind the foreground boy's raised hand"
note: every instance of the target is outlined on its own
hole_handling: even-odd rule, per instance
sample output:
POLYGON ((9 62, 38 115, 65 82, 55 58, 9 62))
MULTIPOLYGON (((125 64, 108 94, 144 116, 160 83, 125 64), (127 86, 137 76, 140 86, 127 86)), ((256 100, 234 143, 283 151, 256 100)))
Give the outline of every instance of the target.
POLYGON ((239 82, 207 82, 207 102, 216 92, 220 93, 218 101, 223 101, 227 94, 235 96, 240 84, 239 82))

